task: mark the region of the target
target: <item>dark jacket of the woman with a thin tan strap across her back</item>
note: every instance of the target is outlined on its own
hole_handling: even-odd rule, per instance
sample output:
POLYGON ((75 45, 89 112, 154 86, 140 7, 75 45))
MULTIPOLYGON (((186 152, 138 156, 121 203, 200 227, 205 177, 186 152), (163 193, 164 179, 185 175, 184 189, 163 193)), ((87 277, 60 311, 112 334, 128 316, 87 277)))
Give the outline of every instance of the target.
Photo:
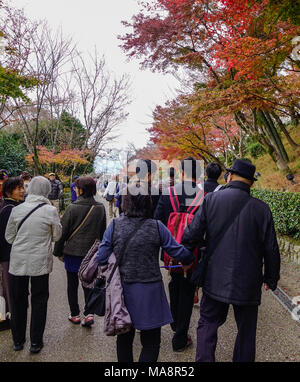
POLYGON ((104 205, 95 201, 93 197, 80 196, 74 203, 68 205, 62 219, 62 235, 55 243, 54 256, 63 254, 84 257, 96 239, 102 240, 106 230, 106 212, 104 205), (78 230, 78 232, 65 245, 67 239, 81 224, 91 206, 95 208, 78 230))

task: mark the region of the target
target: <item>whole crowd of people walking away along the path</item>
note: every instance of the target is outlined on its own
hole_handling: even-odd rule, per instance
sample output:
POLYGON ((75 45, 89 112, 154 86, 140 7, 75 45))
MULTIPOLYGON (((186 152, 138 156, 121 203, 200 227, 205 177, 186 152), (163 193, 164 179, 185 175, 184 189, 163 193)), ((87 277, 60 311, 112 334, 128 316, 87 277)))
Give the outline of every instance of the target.
MULTIPOLYGON (((157 361, 161 328, 167 324, 173 330, 174 352, 191 346, 190 319, 198 289, 191 279, 204 249, 209 260, 195 359, 215 361, 217 331, 232 305, 237 323, 233 361, 255 360, 261 289, 263 284, 276 289, 280 273, 272 214, 250 194, 256 169, 249 161, 238 159, 226 169, 225 185, 218 183, 222 174, 218 163, 206 166, 204 185, 199 183, 198 166, 194 158, 184 159, 180 169, 169 169, 167 179, 154 189, 157 169, 150 160, 140 160, 130 179, 98 184, 110 205, 108 226, 104 204, 95 199, 93 178, 74 177, 71 204, 60 217, 58 200, 63 188, 55 174, 31 179, 28 173, 13 178, 0 171, 0 295, 7 311, 0 325, 11 329, 15 351, 22 350, 26 341, 29 281, 30 351, 38 353, 43 348, 53 255, 66 270, 68 320, 93 326, 94 314, 86 306, 80 315, 78 272, 98 239, 100 266, 107 264, 112 253, 117 259, 122 255, 119 271, 132 327, 117 335, 119 362, 133 361, 136 330, 142 345, 140 362, 157 361), (169 302, 161 267, 170 273, 169 302)), ((82 288, 86 304, 91 289, 82 288)))

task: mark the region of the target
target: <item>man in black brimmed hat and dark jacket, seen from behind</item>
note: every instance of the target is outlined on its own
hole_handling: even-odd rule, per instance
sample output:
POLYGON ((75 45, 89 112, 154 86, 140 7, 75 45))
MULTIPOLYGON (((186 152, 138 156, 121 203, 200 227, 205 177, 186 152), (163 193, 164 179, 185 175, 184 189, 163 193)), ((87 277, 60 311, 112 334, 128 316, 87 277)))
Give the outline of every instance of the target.
POLYGON ((182 244, 192 250, 206 246, 208 265, 200 304, 196 362, 214 362, 217 331, 232 304, 237 324, 234 362, 254 362, 261 288, 275 290, 280 253, 272 213, 250 196, 255 166, 237 159, 229 183, 205 196, 182 244), (204 240, 204 238, 206 239, 204 240))

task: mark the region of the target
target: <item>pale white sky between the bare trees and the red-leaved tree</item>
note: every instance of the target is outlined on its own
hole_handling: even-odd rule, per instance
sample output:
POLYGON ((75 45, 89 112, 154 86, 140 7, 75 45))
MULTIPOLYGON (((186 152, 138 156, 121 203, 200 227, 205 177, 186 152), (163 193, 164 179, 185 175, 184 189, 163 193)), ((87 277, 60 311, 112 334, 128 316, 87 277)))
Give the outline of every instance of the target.
POLYGON ((63 34, 73 37, 82 51, 93 51, 96 46, 99 54, 105 55, 110 71, 130 74, 133 99, 127 109, 130 115, 111 147, 125 148, 127 142, 136 147, 146 145, 152 111, 157 104, 174 98, 178 82, 171 75, 140 70, 138 61, 127 62, 119 48, 121 41, 117 36, 129 32, 121 20, 129 21, 137 13, 137 0, 11 0, 10 4, 24 8, 30 19, 46 19, 53 29, 62 26, 63 34))

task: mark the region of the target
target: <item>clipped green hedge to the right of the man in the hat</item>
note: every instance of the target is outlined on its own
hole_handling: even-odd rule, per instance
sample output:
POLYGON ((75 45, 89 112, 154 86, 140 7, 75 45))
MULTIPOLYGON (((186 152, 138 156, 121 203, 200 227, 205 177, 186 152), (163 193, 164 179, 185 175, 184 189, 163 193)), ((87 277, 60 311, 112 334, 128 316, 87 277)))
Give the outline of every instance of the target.
POLYGON ((300 193, 251 190, 252 196, 267 203, 272 211, 275 229, 282 235, 300 238, 300 193))

